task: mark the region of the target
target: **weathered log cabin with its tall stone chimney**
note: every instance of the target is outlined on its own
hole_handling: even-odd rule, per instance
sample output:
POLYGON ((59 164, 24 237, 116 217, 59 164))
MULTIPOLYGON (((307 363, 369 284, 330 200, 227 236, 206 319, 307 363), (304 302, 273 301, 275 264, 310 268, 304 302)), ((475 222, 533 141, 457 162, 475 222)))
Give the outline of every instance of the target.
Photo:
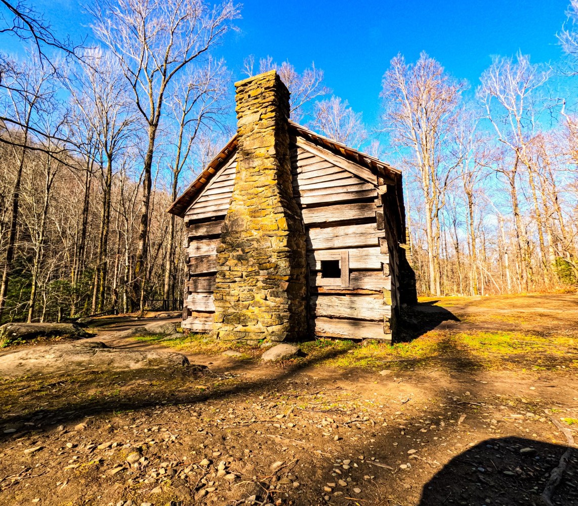
POLYGON ((236 135, 168 209, 186 224, 183 329, 395 340, 416 302, 401 172, 291 121, 275 70, 235 88, 236 135))

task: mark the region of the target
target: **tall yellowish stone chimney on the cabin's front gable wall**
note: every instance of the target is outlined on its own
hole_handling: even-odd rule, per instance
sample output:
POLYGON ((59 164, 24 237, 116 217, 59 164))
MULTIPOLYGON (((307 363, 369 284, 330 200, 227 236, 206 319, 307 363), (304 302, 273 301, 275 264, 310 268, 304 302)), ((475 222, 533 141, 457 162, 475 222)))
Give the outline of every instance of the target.
POLYGON ((213 333, 227 340, 299 340, 307 332, 307 270, 292 190, 289 91, 275 70, 235 88, 237 168, 217 246, 213 333))

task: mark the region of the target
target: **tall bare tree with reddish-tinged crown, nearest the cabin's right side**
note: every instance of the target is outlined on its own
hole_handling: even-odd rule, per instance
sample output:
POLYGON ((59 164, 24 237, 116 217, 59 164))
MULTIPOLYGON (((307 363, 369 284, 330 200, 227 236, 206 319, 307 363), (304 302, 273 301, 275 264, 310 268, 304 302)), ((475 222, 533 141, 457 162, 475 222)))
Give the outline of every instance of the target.
POLYGON ((425 203, 429 258, 429 292, 440 295, 440 224, 448 178, 455 164, 446 163, 444 145, 457 118, 464 84, 422 53, 415 64, 398 55, 383 77, 384 131, 405 150, 405 162, 417 174, 425 203))

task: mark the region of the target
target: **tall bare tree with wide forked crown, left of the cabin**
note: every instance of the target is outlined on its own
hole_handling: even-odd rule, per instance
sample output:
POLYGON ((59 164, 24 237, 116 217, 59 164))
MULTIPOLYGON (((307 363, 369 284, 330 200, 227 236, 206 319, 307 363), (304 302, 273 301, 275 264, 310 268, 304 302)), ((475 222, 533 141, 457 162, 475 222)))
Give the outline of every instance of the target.
POLYGON ((99 0, 91 7, 95 35, 116 56, 147 127, 135 296, 144 309, 149 207, 155 142, 165 99, 185 69, 205 65, 210 49, 239 13, 232 2, 211 8, 203 0, 99 0))

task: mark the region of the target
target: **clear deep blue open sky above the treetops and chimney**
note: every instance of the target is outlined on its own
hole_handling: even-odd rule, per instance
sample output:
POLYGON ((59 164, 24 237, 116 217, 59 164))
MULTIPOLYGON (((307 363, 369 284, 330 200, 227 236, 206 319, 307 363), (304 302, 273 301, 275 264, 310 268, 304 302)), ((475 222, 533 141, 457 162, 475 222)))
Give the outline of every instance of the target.
MULTIPOLYGON (((90 32, 76 0, 33 0, 58 34, 90 32)), ((381 77, 395 54, 409 61, 426 51, 475 88, 491 55, 521 50, 533 62, 555 62, 555 34, 569 0, 248 0, 239 30, 217 52, 236 78, 243 59, 271 55, 301 71, 312 61, 335 95, 362 112, 369 125, 380 110, 381 77)), ((6 42, 3 40, 2 42, 6 42)))

